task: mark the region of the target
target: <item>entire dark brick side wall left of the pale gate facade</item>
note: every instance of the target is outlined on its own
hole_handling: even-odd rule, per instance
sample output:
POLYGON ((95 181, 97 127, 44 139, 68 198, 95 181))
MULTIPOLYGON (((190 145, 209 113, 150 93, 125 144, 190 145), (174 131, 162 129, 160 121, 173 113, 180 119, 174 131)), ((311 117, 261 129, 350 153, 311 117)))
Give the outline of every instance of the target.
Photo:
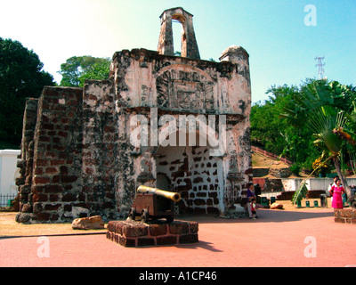
POLYGON ((108 85, 88 81, 84 90, 45 87, 38 106, 28 101, 19 222, 115 216, 117 119, 108 85))

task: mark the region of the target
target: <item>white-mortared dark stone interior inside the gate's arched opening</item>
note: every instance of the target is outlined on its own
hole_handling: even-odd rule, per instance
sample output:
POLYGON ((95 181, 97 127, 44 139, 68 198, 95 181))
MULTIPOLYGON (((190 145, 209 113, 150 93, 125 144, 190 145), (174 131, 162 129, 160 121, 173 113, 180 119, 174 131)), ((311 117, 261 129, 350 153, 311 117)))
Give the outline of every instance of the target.
POLYGON ((223 159, 211 156, 209 150, 210 146, 158 147, 157 184, 163 185, 161 178, 165 177, 169 191, 181 194, 180 214, 217 214, 222 210, 223 159))

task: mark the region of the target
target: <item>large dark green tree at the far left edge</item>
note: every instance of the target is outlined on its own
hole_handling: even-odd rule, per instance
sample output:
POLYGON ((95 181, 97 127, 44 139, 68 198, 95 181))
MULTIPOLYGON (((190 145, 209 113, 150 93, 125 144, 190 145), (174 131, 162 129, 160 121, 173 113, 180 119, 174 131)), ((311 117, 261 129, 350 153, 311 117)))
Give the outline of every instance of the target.
POLYGON ((18 41, 0 37, 0 148, 20 147, 27 97, 38 97, 44 85, 55 85, 38 55, 18 41))

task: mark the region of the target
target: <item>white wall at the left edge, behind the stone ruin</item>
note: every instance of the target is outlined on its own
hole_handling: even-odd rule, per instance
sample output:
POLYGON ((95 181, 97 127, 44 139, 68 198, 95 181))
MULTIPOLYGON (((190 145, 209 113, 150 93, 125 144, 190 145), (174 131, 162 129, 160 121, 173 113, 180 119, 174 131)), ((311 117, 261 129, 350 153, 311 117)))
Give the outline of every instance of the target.
POLYGON ((18 187, 15 179, 20 176, 20 169, 17 165, 17 157, 20 151, 2 150, 0 151, 0 194, 17 194, 18 187))

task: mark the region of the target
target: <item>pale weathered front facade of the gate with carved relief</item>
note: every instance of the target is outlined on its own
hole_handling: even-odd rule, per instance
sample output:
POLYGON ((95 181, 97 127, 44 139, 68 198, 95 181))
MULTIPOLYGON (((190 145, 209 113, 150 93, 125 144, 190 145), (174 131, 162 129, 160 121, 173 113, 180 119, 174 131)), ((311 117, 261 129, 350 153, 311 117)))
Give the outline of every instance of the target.
MULTIPOLYGON (((235 50, 235 48, 231 49, 235 50)), ((238 53, 242 53, 240 49, 237 50, 238 53)), ((234 60, 233 53, 224 53, 224 56, 227 56, 226 54, 229 54, 232 61, 234 60)), ((243 56, 247 61, 246 52, 243 56)), ((223 59, 226 60, 226 57, 223 59)), ((134 199, 134 195, 130 193, 134 193, 134 189, 140 183, 155 187, 159 173, 166 175, 169 183, 172 183, 171 191, 174 189, 182 191, 180 209, 184 211, 204 213, 223 211, 226 204, 224 200, 226 189, 232 188, 239 191, 239 195, 244 194, 240 190, 252 179, 249 143, 250 86, 249 75, 245 77, 247 69, 243 69, 239 74, 240 65, 232 61, 198 61, 163 56, 144 49, 123 51, 114 55, 111 70, 116 83, 119 121, 117 150, 121 158, 117 161, 118 183, 120 183, 117 187, 118 199, 126 200, 125 204, 129 205, 134 199), (157 108, 156 121, 153 119, 154 112, 152 112, 155 108, 157 108), (137 124, 134 123, 133 127, 133 118, 137 115, 142 118, 137 124), (210 151, 209 146, 206 145, 200 150, 205 153, 205 161, 192 163, 193 160, 190 159, 189 163, 186 162, 181 166, 190 168, 189 171, 184 169, 186 170, 184 173, 182 169, 178 171, 178 165, 171 165, 176 159, 168 158, 167 161, 161 161, 160 151, 166 148, 164 151, 166 153, 185 153, 181 159, 181 163, 184 164, 184 161, 189 159, 188 153, 191 153, 189 143, 185 144, 187 148, 184 151, 175 149, 176 146, 169 143, 165 147, 160 145, 158 148, 158 144, 152 142, 152 134, 156 130, 158 137, 165 134, 164 138, 169 141, 170 135, 175 130, 170 132, 169 126, 172 124, 165 124, 161 119, 170 116, 169 118, 174 120, 173 125, 179 126, 180 118, 190 115, 193 118, 203 116, 206 121, 208 116, 214 116, 216 125, 220 116, 224 116, 226 149, 213 157, 206 154, 206 151, 210 151), (147 142, 133 148, 130 142, 132 137, 127 133, 130 128, 136 128, 138 134, 147 134, 147 142), (162 164, 166 164, 168 170, 162 164), (220 167, 218 167, 219 171, 210 171, 207 166, 220 167), (174 176, 178 173, 182 177, 174 176), (207 173, 212 177, 207 177, 207 173), (220 176, 217 178, 217 175, 220 176), (207 181, 208 178, 211 182, 207 181), (190 187, 189 191, 188 187, 190 187)), ((201 136, 202 133, 197 132, 198 127, 197 125, 193 132, 201 136)), ((215 126, 214 130, 219 132, 219 126, 215 126)), ((177 140, 178 136, 176 135, 177 140)), ((121 208, 128 210, 125 206, 121 208)))

